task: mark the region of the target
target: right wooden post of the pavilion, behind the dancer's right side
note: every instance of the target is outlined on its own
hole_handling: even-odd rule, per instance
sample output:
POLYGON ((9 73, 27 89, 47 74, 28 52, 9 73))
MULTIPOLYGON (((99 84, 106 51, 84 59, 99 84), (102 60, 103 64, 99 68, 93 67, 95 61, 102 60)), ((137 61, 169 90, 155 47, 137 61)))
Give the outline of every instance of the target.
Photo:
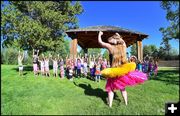
POLYGON ((137 41, 137 55, 138 60, 143 60, 143 47, 142 47, 142 41, 137 41))

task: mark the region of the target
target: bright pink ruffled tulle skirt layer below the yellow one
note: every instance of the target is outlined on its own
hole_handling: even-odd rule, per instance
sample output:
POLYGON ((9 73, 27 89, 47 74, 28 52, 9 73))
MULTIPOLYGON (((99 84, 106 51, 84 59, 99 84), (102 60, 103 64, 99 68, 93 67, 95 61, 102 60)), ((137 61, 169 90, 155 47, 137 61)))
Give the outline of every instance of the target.
POLYGON ((124 90, 126 86, 141 84, 146 80, 147 75, 145 73, 135 70, 124 76, 108 78, 106 83, 106 91, 124 90))

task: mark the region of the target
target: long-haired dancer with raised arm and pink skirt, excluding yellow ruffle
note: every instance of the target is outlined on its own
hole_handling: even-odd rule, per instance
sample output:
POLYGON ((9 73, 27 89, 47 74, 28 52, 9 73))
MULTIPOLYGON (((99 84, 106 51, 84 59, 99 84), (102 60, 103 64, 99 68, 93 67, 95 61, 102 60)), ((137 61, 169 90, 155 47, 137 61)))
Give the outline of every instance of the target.
MULTIPOLYGON (((108 49, 110 66, 115 68, 126 64, 126 43, 122 37, 116 33, 108 38, 108 43, 105 43, 101 39, 102 35, 103 32, 99 32, 98 43, 108 49)), ((132 59, 132 61, 134 60, 132 59)), ((147 75, 139 71, 132 71, 116 78, 107 78, 106 91, 108 92, 107 101, 109 107, 112 107, 115 90, 121 91, 124 102, 127 105, 127 92, 125 87, 143 83, 145 80, 147 80, 147 75)))

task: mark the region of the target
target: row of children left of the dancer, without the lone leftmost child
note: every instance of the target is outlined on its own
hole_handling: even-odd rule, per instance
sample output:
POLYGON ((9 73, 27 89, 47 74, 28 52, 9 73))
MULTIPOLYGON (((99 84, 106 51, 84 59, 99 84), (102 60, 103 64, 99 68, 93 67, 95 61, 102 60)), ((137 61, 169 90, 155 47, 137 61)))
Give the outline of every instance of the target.
POLYGON ((39 50, 33 50, 33 71, 34 75, 37 76, 39 73, 44 76, 50 76, 49 62, 52 61, 53 64, 53 75, 58 76, 58 72, 61 78, 65 76, 72 80, 73 77, 87 77, 90 74, 95 81, 100 82, 101 70, 109 68, 110 64, 107 59, 103 59, 101 55, 95 58, 95 56, 80 57, 75 59, 66 57, 65 60, 60 58, 59 55, 53 57, 51 54, 49 56, 44 56, 42 54, 39 57, 39 50), (59 71, 58 71, 59 69, 59 71))

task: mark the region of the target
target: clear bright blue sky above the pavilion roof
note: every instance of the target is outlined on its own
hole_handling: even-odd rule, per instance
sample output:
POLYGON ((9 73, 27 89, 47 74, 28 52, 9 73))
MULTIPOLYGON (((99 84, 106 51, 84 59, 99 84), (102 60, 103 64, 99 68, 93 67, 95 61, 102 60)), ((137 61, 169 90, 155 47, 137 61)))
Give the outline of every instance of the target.
MULTIPOLYGON (((159 47, 162 41, 159 28, 169 24, 159 1, 83 1, 81 4, 84 12, 78 16, 80 28, 112 25, 140 31, 149 35, 143 45, 159 47)), ((172 40, 170 44, 179 50, 179 41, 172 40)))

